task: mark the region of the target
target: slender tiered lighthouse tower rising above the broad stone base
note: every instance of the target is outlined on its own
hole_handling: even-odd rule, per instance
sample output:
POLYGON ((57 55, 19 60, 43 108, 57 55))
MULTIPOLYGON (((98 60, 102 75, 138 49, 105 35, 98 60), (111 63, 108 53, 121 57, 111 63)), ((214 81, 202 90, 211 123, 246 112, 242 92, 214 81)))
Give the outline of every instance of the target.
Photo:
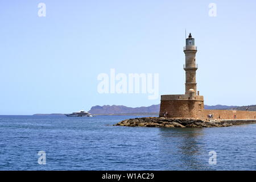
POLYGON ((185 64, 183 66, 186 72, 185 94, 189 94, 189 90, 193 89, 196 93, 196 52, 195 39, 189 34, 184 47, 185 64))

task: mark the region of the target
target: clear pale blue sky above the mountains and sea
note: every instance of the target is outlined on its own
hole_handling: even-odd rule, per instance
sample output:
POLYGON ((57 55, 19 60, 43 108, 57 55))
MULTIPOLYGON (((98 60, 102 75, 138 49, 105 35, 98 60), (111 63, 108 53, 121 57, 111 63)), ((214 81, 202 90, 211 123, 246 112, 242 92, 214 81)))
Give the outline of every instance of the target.
POLYGON ((150 106, 184 94, 185 30, 195 38, 205 104, 255 105, 255 9, 253 0, 1 1, 0 114, 150 106), (110 69, 158 73, 159 97, 99 93, 98 75, 110 69))

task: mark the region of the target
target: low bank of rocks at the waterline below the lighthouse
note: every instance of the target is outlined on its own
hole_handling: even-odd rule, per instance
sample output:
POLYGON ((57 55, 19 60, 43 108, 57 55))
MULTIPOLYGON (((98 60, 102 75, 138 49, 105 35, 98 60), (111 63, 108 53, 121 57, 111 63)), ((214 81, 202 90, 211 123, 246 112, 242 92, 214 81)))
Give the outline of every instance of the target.
POLYGON ((225 121, 195 119, 195 118, 158 118, 145 117, 126 119, 118 122, 114 126, 129 126, 129 127, 227 127, 232 126, 232 123, 225 121))

